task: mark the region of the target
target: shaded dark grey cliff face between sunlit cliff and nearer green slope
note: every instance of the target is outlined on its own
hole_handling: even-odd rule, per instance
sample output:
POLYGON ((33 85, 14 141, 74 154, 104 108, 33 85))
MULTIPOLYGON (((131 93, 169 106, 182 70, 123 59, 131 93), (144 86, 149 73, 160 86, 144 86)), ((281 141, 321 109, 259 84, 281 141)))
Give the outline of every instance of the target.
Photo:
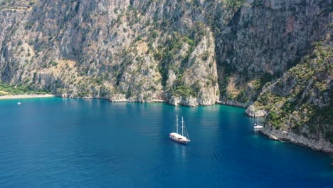
POLYGON ((219 22, 216 34, 221 101, 255 101, 263 85, 295 66, 331 22, 332 1, 245 2, 230 21, 219 22))

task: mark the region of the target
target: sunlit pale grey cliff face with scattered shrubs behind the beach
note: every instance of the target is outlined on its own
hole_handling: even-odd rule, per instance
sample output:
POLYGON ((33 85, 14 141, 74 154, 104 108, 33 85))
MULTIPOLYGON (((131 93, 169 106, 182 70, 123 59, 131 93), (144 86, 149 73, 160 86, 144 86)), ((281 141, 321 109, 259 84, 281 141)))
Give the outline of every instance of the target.
POLYGON ((215 38, 197 4, 39 1, 22 15, 3 9, 1 19, 18 28, 2 36, 1 80, 69 97, 211 105, 215 38))

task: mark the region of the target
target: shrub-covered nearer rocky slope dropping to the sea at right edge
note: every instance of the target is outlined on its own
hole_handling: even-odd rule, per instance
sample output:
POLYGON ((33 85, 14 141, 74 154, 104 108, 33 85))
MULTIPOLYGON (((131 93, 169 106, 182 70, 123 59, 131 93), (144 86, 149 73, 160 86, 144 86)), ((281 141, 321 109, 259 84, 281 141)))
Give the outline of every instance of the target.
POLYGON ((268 83, 253 105, 264 110, 263 133, 316 150, 333 152, 333 48, 327 34, 310 56, 268 83))

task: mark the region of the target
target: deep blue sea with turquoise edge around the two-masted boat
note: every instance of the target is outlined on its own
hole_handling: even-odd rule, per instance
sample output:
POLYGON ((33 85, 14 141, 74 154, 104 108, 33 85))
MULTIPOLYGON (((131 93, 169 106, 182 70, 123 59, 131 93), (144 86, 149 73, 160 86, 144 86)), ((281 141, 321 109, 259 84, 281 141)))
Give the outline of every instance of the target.
POLYGON ((333 187, 329 155, 255 134, 244 112, 0 100, 0 187, 333 187), (169 140, 176 115, 189 145, 169 140))

